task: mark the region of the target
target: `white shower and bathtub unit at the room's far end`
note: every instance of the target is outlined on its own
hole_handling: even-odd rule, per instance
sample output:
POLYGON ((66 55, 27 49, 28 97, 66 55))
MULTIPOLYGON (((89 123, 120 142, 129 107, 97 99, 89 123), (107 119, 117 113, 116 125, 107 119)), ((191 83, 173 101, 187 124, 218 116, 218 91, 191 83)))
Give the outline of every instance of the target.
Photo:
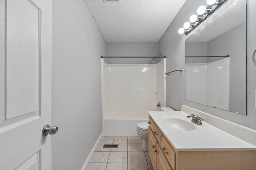
POLYGON ((148 111, 165 106, 165 59, 156 64, 108 64, 102 67, 102 136, 137 136, 136 125, 148 111))

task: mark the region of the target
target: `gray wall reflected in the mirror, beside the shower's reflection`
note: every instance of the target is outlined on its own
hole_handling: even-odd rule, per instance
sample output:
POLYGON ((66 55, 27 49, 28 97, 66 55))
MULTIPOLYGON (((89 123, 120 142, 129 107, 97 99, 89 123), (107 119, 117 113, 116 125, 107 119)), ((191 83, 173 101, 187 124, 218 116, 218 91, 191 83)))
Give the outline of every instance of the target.
POLYGON ((245 30, 242 23, 207 43, 208 55, 230 56, 230 111, 241 114, 246 112, 245 30))

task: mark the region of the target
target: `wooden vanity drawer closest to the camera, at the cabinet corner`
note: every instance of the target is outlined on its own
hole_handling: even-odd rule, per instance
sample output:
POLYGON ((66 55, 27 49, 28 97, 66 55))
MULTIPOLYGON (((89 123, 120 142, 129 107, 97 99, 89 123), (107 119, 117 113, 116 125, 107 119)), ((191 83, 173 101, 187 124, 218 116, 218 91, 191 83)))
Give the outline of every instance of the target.
POLYGON ((164 152, 164 155, 166 156, 168 162, 172 166, 172 169, 175 170, 175 152, 172 149, 172 146, 168 143, 166 138, 162 137, 162 151, 164 152))

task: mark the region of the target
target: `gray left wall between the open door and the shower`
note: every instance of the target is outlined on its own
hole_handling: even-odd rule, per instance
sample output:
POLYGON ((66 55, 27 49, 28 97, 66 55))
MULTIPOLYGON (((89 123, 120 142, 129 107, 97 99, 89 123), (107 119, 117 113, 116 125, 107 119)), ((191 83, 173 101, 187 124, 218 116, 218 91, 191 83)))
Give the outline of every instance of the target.
POLYGON ((84 0, 53 0, 52 10, 52 169, 80 170, 102 131, 106 41, 84 0))

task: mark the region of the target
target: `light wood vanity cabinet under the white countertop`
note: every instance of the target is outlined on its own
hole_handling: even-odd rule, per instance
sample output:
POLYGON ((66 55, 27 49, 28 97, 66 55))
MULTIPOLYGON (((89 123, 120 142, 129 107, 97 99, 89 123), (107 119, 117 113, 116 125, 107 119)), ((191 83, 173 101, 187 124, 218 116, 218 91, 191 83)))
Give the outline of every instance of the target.
POLYGON ((149 120, 148 154, 154 170, 256 170, 256 150, 176 151, 149 120))

